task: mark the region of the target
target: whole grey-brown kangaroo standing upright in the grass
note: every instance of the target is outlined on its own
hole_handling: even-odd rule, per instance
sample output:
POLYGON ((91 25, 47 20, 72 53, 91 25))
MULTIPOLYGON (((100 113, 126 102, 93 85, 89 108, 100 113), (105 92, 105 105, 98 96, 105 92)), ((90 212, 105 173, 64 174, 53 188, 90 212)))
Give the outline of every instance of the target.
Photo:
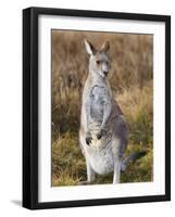
POLYGON ((146 153, 134 153, 123 159, 128 127, 108 80, 110 43, 107 41, 96 49, 85 39, 85 47, 89 54, 89 73, 83 90, 79 143, 86 159, 87 181, 82 183, 93 183, 96 174, 111 171, 113 183, 120 183, 121 171, 146 153))

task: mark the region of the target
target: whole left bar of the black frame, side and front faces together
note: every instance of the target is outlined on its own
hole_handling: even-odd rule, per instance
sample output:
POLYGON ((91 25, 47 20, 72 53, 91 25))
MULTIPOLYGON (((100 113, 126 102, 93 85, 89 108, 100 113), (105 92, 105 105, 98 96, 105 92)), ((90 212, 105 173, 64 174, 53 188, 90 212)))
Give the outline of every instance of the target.
POLYGON ((23 207, 38 203, 38 39, 33 8, 23 10, 23 207))

